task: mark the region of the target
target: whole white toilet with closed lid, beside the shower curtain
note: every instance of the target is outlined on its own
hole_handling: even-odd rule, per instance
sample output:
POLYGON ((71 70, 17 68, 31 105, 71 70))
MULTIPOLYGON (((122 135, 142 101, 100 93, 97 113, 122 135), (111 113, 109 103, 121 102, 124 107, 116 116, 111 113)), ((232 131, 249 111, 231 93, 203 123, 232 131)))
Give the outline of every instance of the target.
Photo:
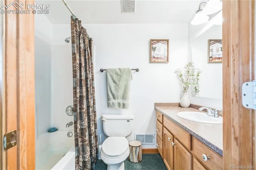
POLYGON ((102 115, 104 140, 100 156, 107 170, 124 170, 124 161, 129 156, 127 136, 132 134, 133 115, 102 115))

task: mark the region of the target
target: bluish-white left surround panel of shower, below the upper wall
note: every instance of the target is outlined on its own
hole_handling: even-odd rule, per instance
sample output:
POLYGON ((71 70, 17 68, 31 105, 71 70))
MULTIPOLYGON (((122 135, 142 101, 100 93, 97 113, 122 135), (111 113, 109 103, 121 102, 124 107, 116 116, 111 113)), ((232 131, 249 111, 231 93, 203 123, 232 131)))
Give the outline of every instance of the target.
POLYGON ((50 128, 51 46, 35 37, 36 131, 39 138, 50 128))

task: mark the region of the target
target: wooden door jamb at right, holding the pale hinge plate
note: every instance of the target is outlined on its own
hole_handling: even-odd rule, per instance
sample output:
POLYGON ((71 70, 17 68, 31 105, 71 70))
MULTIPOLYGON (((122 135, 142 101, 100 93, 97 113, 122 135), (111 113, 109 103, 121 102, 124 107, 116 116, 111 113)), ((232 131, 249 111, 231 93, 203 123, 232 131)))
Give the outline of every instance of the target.
POLYGON ((254 0, 223 0, 223 169, 255 167, 255 111, 242 106, 254 75, 254 0))

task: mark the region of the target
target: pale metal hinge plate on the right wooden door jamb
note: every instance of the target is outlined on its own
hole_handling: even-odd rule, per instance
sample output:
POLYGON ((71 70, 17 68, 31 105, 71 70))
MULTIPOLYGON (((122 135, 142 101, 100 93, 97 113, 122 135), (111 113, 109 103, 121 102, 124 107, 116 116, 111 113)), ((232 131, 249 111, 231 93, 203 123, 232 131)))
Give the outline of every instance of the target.
POLYGON ((256 81, 245 82, 242 85, 242 105, 248 109, 256 109, 256 81))

